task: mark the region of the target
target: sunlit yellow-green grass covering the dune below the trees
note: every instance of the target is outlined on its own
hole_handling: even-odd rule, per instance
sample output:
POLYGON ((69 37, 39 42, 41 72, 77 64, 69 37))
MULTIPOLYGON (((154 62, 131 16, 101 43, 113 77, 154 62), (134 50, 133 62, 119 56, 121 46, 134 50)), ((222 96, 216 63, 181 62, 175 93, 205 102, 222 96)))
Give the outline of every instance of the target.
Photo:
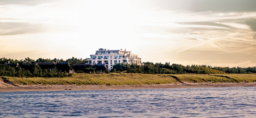
POLYGON ((2 76, 16 85, 141 85, 166 84, 175 82, 224 83, 256 82, 256 74, 179 74, 153 75, 138 73, 84 74, 75 73, 64 78, 19 78, 2 76))

